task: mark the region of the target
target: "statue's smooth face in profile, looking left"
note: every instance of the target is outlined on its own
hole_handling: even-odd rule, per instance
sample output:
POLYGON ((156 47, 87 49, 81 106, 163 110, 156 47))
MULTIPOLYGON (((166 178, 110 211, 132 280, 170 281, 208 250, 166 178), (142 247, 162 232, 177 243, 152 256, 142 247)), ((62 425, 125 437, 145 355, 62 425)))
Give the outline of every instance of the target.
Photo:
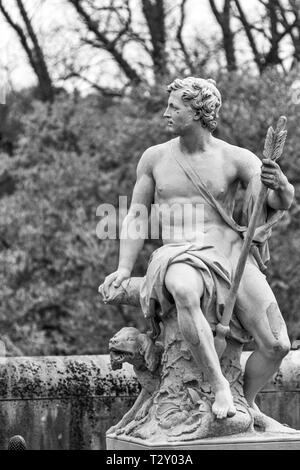
POLYGON ((172 91, 168 106, 163 115, 167 119, 170 132, 175 135, 184 135, 186 131, 195 126, 196 113, 191 106, 182 100, 183 90, 172 91))

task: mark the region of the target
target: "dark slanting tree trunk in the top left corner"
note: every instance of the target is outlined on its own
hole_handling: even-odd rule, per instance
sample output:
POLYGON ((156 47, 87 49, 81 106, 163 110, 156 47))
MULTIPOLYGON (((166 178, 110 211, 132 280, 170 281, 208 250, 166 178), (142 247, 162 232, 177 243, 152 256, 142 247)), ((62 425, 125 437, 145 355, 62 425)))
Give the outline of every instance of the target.
MULTIPOLYGON (((6 5, 8 3, 11 2, 6 2, 6 5)), ((15 0, 15 3, 23 20, 23 24, 13 20, 12 15, 7 10, 6 5, 4 5, 5 1, 3 0, 0 0, 0 11, 7 23, 19 37, 23 50, 25 51, 28 61, 38 79, 41 99, 43 101, 53 101, 54 87, 37 34, 22 0, 15 0)))

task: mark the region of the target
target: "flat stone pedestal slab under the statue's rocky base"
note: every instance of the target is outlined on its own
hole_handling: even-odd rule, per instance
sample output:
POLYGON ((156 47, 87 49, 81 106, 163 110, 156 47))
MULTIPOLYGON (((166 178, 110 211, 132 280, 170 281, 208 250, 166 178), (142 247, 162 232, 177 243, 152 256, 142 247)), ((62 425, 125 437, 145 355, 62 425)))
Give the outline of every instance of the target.
POLYGON ((300 450, 300 432, 297 434, 251 433, 192 442, 151 442, 141 439, 106 437, 107 450, 300 450))

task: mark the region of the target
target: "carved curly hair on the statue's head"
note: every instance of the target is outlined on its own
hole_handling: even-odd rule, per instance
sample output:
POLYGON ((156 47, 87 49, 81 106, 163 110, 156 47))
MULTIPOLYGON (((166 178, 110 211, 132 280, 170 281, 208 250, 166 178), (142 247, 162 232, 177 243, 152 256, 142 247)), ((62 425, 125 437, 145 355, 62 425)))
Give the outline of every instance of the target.
POLYGON ((188 77, 177 78, 167 90, 169 93, 183 89, 183 101, 189 101, 191 107, 200 113, 201 125, 213 132, 217 127, 219 111, 222 106, 221 93, 212 79, 188 77))

